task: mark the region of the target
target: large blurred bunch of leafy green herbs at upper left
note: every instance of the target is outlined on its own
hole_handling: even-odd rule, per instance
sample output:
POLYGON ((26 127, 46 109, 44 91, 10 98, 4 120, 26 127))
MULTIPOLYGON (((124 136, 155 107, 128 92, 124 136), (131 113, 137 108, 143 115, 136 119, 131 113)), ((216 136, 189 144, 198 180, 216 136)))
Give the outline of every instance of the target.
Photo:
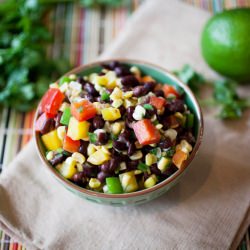
POLYGON ((0 4, 0 105, 19 111, 34 107, 59 63, 48 59, 51 34, 43 23, 45 6, 36 0, 0 4))

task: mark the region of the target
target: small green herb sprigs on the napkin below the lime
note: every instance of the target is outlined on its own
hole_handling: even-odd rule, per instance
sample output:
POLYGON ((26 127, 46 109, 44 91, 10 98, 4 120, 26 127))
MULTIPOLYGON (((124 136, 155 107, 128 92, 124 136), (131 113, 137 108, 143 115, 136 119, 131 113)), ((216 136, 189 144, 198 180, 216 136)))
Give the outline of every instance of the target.
POLYGON ((189 65, 174 73, 197 95, 201 104, 219 107, 218 117, 221 119, 239 119, 243 111, 250 108, 250 98, 242 98, 238 95, 236 82, 208 81, 189 65), (212 96, 204 100, 200 98, 200 92, 205 86, 212 89, 212 96))

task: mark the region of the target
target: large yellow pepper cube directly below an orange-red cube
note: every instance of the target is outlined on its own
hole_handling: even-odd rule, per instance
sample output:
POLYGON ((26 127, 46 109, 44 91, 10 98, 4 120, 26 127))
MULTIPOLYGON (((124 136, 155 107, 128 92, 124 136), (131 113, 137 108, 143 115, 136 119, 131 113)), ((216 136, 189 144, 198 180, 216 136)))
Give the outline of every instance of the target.
POLYGON ((87 121, 79 122, 75 117, 69 120, 67 136, 72 140, 80 140, 88 137, 90 123, 87 121))

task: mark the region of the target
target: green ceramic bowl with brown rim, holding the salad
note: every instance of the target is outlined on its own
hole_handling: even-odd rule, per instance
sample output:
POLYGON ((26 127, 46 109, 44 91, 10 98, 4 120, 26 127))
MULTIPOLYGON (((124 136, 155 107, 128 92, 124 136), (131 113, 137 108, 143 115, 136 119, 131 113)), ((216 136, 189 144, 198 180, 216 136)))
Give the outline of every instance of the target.
MULTIPOLYGON (((168 83, 173 86, 178 86, 178 88, 183 89, 185 92, 185 101, 188 105, 189 109, 195 114, 195 137, 196 143, 194 145, 193 151, 191 152, 188 160, 185 162, 185 165, 182 169, 179 169, 173 175, 171 175, 166 180, 158 183, 152 188, 144 189, 141 191, 133 192, 133 193, 125 193, 125 194, 105 194, 94 192, 85 188, 81 188, 77 185, 74 185, 72 182, 68 181, 64 177, 62 177, 46 160, 45 158, 45 149, 42 145, 40 136, 35 133, 36 146, 38 150, 38 154, 44 163, 43 165, 47 170, 49 170, 50 174, 54 176, 61 185, 65 188, 78 195, 81 198, 86 200, 100 203, 100 204, 109 204, 114 206, 123 206, 123 205, 134 205, 148 202, 152 199, 159 197, 160 195, 166 193, 170 188, 172 188, 178 181, 183 178, 187 168, 195 157, 197 150, 200 146, 202 134, 203 134, 203 118, 200 106, 192 93, 192 91, 182 83, 178 78, 176 78, 169 71, 142 61, 137 60, 128 60, 128 59, 111 59, 106 61, 97 61, 95 63, 87 64, 80 66, 72 71, 68 72, 66 75, 70 74, 79 74, 79 75, 89 75, 94 72, 99 72, 101 70, 101 64, 108 63, 111 61, 120 61, 123 64, 127 64, 129 66, 137 66, 144 74, 152 76, 156 79, 157 82, 160 83, 168 83)), ((38 111, 35 116, 35 120, 37 118, 38 111)))

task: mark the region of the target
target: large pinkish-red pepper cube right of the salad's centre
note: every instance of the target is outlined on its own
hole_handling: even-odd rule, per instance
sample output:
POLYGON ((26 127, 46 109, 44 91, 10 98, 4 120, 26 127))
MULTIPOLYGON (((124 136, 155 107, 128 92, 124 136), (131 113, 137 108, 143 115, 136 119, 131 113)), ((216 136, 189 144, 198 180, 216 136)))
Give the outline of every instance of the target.
POLYGON ((149 119, 140 120, 133 125, 135 136, 141 145, 159 142, 161 135, 149 119))

